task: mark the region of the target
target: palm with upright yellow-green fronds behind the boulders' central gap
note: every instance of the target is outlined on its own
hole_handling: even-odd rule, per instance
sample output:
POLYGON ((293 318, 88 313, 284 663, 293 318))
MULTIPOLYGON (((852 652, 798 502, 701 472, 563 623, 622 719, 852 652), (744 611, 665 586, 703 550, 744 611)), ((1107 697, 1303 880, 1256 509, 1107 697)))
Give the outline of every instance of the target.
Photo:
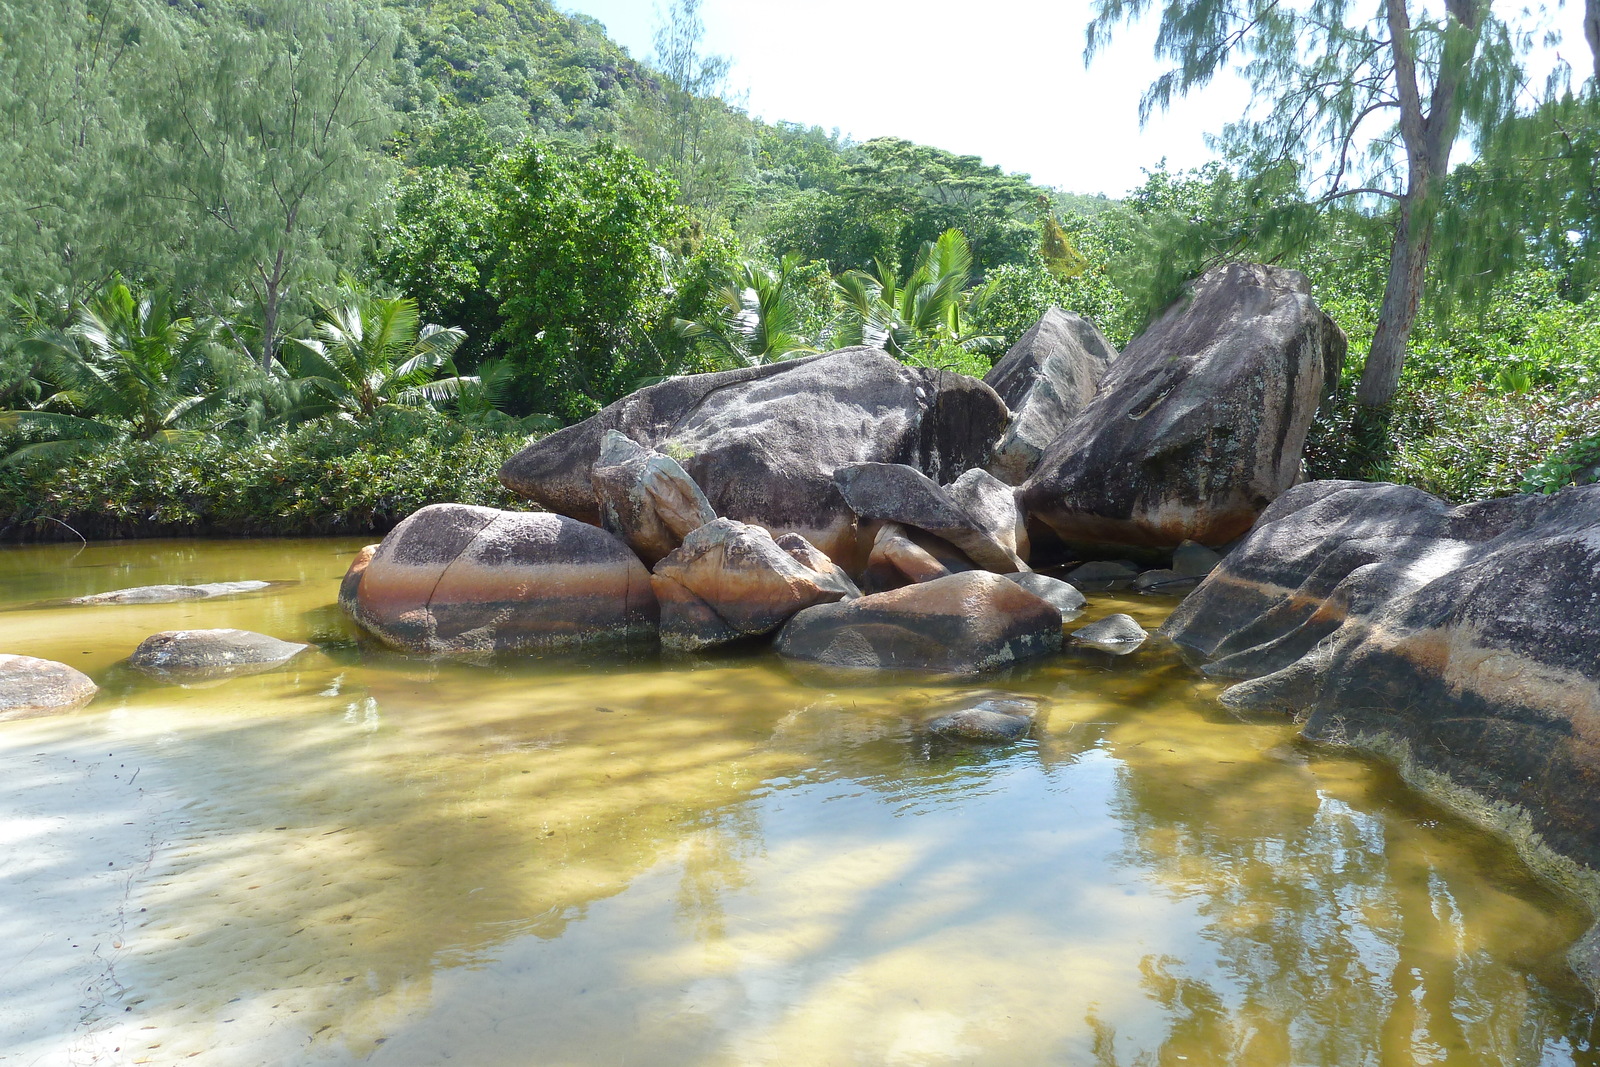
POLYGON ((882 259, 874 272, 848 270, 835 283, 845 302, 838 341, 902 360, 944 347, 995 347, 1000 338, 971 330, 990 293, 989 286, 968 291, 971 277, 973 253, 955 229, 923 243, 904 285, 882 259))

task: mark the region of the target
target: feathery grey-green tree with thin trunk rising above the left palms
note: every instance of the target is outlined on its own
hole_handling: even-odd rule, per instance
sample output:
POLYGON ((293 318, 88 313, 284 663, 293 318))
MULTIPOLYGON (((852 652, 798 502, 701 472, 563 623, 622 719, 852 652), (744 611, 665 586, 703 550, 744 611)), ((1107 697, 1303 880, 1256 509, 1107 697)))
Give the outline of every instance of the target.
POLYGON ((208 301, 246 299, 254 357, 270 368, 296 286, 331 277, 382 192, 394 26, 355 0, 256 0, 203 18, 150 117, 162 168, 149 192, 181 210, 174 277, 208 301))

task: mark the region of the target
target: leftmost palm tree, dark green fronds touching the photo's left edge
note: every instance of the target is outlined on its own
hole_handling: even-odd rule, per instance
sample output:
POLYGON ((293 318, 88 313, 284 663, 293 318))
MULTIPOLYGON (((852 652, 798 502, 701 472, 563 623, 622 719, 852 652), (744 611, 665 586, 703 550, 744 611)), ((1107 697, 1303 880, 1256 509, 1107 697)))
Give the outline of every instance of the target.
POLYGON ((37 405, 0 411, 0 430, 45 429, 54 440, 6 456, 66 454, 117 437, 174 442, 230 414, 226 358, 208 328, 178 315, 162 291, 110 283, 66 330, 40 326, 22 342, 54 387, 37 405))

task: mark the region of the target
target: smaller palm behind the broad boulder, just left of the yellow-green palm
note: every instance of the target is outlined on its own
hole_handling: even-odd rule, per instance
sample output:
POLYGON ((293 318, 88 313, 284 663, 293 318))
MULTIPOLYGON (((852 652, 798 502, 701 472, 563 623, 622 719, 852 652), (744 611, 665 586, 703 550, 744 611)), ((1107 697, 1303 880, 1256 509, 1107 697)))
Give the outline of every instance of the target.
POLYGON ((701 322, 675 318, 674 333, 704 341, 718 362, 734 366, 758 366, 816 352, 800 334, 794 290, 798 262, 798 256, 784 256, 776 272, 752 259, 734 264, 710 290, 712 315, 701 322))

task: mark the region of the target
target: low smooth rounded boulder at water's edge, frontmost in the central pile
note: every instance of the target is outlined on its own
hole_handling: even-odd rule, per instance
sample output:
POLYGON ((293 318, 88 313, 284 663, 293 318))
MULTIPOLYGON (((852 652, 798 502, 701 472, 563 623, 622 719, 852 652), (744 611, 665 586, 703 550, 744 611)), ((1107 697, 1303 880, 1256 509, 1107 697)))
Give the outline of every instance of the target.
POLYGON ((976 673, 1061 649, 1061 611, 986 571, 806 608, 778 651, 827 667, 976 673))

